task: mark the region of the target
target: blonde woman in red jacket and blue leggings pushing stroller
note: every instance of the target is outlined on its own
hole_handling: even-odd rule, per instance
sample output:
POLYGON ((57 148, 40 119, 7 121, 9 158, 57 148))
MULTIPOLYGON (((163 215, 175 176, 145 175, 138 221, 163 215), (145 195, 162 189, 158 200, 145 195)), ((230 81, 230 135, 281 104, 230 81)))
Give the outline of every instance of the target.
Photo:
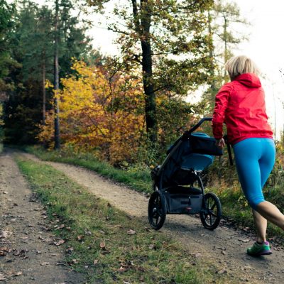
POLYGON ((216 95, 213 134, 217 146, 224 148, 222 129, 223 123, 226 124, 239 181, 252 207, 257 239, 247 253, 252 256, 271 254, 266 241, 267 220, 284 229, 284 215, 264 200, 262 192, 275 162, 273 132, 268 124, 264 92, 258 79, 258 68, 250 58, 231 58, 225 69, 231 82, 224 84, 216 95))

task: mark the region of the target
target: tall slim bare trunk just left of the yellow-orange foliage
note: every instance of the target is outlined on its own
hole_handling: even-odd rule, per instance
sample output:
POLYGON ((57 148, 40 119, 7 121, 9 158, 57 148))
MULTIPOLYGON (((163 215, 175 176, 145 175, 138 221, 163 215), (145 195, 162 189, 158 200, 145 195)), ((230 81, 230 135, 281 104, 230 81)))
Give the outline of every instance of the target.
MULTIPOLYGON (((59 89, 59 69, 58 69, 58 45, 59 45, 59 36, 58 36, 58 13, 59 13, 59 4, 58 0, 55 0, 55 41, 54 41, 54 91, 57 94, 59 89)), ((54 99, 54 148, 55 150, 60 149, 60 124, 59 124, 59 107, 58 99, 55 95, 54 99)))

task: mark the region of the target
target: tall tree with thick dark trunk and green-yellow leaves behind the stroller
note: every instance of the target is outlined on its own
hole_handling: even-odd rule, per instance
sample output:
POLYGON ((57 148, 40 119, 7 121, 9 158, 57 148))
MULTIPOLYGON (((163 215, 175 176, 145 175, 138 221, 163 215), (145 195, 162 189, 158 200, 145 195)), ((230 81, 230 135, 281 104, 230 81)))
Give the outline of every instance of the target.
MULTIPOLYGON (((109 1, 87 1, 103 11, 109 1)), ((118 33, 124 67, 141 65, 145 94, 146 130, 156 143, 156 95, 172 91, 187 94, 209 76, 210 38, 204 33, 204 11, 213 1, 131 0, 116 5, 113 14, 119 21, 109 23, 118 33), (121 23, 122 21, 122 23, 121 23)))

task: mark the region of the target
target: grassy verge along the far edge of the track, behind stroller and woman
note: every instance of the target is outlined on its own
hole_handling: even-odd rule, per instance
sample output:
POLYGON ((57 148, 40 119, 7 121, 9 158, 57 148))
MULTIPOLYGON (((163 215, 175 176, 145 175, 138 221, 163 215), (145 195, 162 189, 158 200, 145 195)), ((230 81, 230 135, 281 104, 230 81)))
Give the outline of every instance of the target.
MULTIPOLYGON (((149 169, 147 170, 119 170, 111 165, 101 162, 92 155, 70 154, 64 151, 45 151, 39 147, 28 147, 26 151, 37 155, 43 160, 53 160, 62 163, 70 163, 72 165, 81 165, 89 170, 94 170, 100 175, 123 182, 134 190, 140 192, 151 192, 151 178, 149 169)), ((216 166, 216 165, 215 165, 216 166)), ((216 170, 216 169, 215 169, 216 170)), ((214 182, 215 185, 209 187, 207 191, 215 192, 222 203, 223 215, 229 222, 239 226, 240 228, 249 227, 255 229, 251 208, 241 192, 239 182, 237 182, 236 173, 231 170, 230 185, 224 182, 214 182), (233 177, 234 175, 234 177, 233 177)), ((217 178, 217 177, 216 177, 217 178)), ((216 179, 215 178, 215 179, 216 179)), ((283 190, 280 187, 267 187, 265 195, 268 201, 273 202, 278 208, 284 208, 283 190)), ((284 244, 283 231, 273 224, 268 223, 268 238, 273 237, 280 243, 284 244)))

